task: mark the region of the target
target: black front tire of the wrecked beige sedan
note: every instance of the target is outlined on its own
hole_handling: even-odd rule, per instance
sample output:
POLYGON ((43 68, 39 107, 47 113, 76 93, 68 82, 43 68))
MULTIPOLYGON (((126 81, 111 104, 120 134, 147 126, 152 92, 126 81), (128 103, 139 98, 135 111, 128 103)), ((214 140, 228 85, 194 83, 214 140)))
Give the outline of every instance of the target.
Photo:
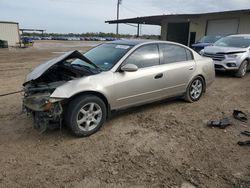
POLYGON ((75 136, 86 137, 96 133, 102 127, 103 123, 106 121, 106 116, 107 109, 102 99, 95 95, 82 95, 69 102, 64 116, 64 121, 75 136), (94 106, 91 114, 90 108, 92 104, 94 104, 94 106), (89 110, 85 111, 84 108, 89 108, 89 110), (83 110, 84 113, 82 113, 81 110, 83 110), (101 117, 99 117, 99 114, 94 115, 94 112, 97 111, 101 111, 101 117), (81 125, 78 123, 81 121, 79 120, 80 115, 82 116, 81 120, 84 119, 84 122, 81 125), (94 120, 98 119, 98 123, 91 122, 93 118, 95 118, 94 120))

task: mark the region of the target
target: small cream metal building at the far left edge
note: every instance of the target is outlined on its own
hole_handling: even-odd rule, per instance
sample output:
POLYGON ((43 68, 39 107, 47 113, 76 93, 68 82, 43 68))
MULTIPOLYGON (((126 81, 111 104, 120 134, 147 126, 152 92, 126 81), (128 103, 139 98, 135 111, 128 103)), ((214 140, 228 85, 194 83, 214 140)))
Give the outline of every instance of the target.
POLYGON ((7 41, 9 46, 20 46, 18 23, 0 21, 0 40, 7 41))

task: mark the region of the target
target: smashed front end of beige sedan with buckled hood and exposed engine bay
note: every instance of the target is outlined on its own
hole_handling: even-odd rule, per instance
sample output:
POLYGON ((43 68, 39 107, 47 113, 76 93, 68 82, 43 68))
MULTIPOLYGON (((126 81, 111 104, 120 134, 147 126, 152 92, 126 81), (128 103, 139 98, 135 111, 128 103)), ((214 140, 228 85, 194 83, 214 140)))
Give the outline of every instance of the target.
POLYGON ((43 132, 48 125, 61 124, 67 101, 50 98, 57 87, 98 73, 98 67, 78 51, 68 52, 35 68, 23 84, 23 108, 34 117, 35 128, 43 132))

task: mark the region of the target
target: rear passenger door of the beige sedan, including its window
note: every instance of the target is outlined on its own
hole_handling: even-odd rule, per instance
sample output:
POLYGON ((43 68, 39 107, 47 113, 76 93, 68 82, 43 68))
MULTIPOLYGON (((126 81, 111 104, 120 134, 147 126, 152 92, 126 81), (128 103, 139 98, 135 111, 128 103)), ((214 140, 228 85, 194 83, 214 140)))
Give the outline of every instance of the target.
POLYGON ((186 91, 196 65, 192 52, 176 44, 159 44, 160 67, 163 72, 164 96, 175 96, 186 91))

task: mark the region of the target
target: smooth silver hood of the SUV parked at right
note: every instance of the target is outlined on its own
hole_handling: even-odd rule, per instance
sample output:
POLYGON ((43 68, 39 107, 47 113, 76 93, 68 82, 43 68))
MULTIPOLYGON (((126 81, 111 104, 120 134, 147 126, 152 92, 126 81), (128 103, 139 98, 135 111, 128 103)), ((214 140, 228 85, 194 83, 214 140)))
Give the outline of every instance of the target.
POLYGON ((216 53, 240 53, 240 52, 245 52, 247 51, 246 48, 233 48, 233 47, 221 47, 221 46, 207 46, 204 49, 205 53, 211 53, 211 54, 216 54, 216 53))

